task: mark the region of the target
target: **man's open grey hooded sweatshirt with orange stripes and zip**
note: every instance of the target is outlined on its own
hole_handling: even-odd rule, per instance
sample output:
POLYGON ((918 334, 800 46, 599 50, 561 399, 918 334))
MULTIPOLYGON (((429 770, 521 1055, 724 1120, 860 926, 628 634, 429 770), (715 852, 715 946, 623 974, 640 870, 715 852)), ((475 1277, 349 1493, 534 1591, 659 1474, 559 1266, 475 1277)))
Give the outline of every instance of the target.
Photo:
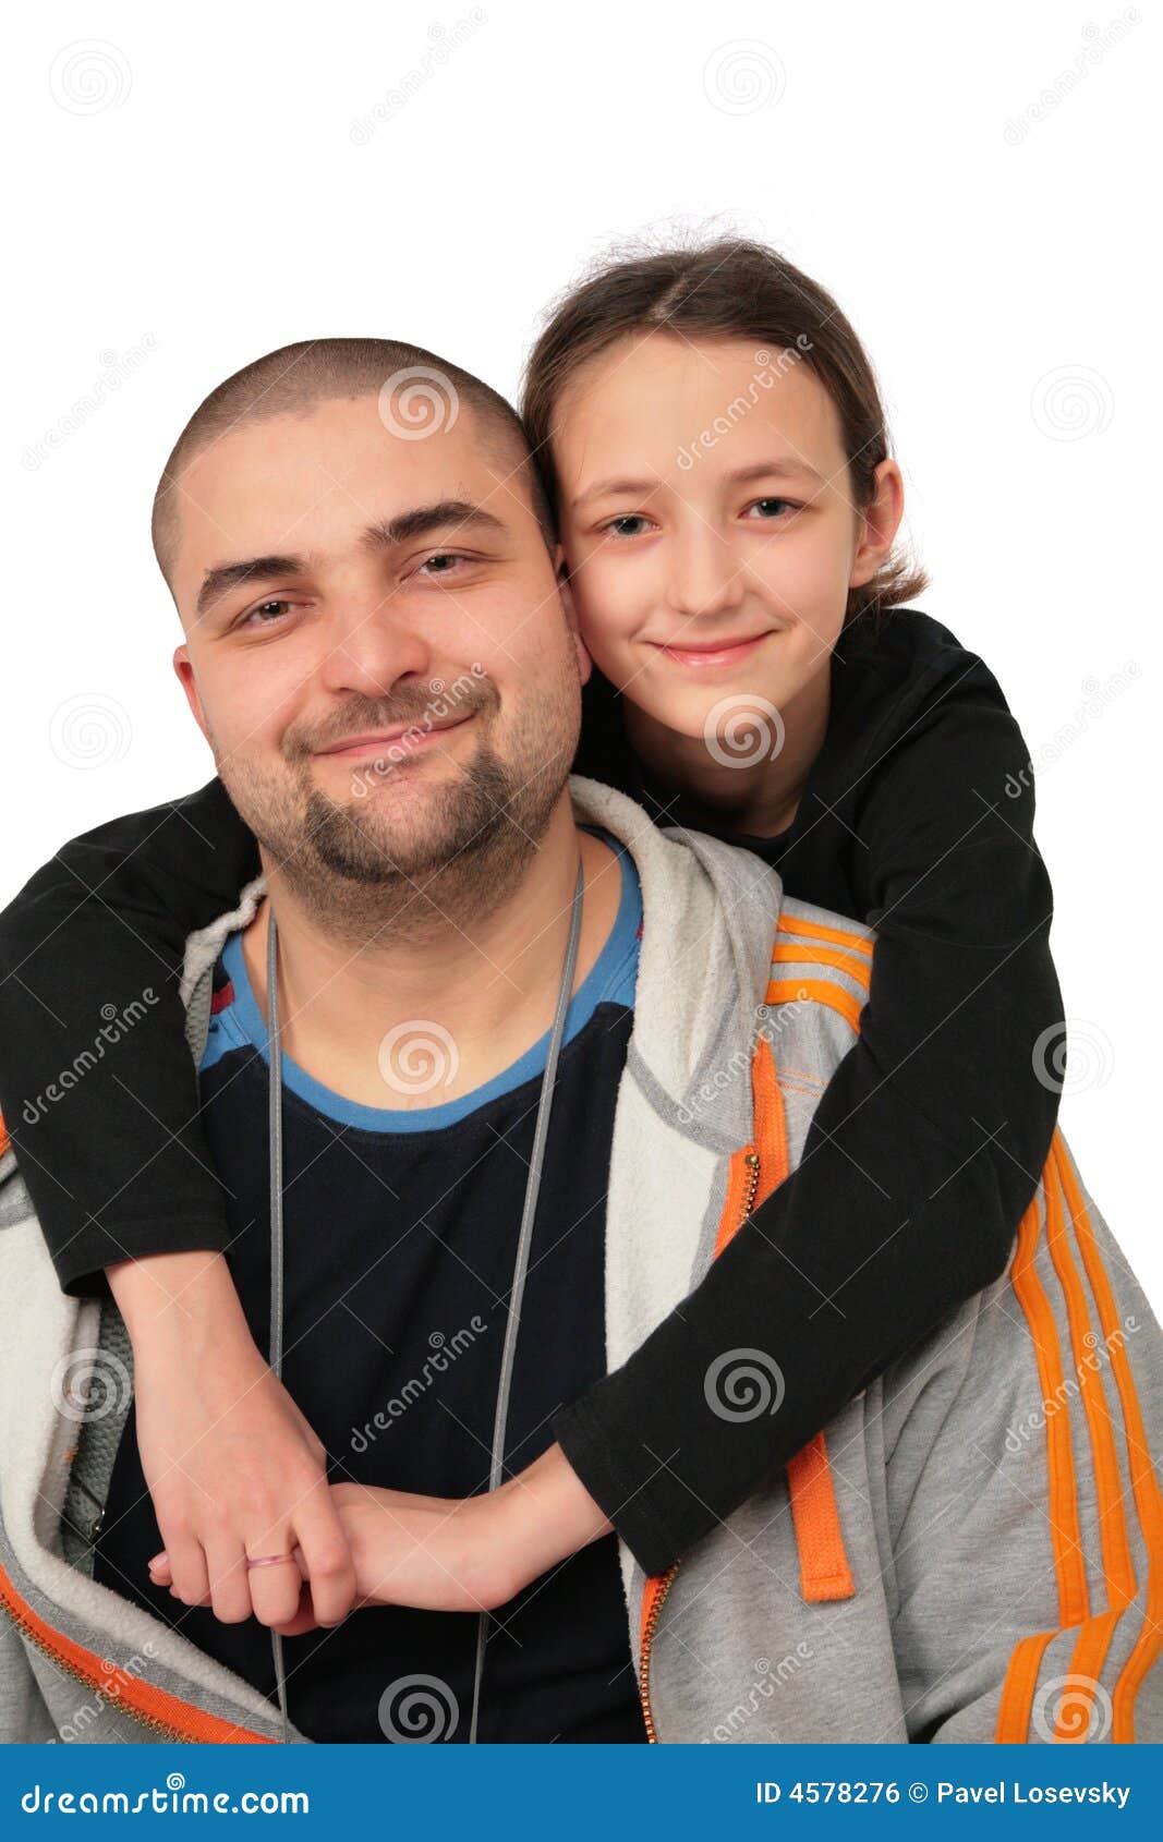
MULTIPOLYGON (((875 936, 608 787, 571 796, 643 899, 606 1205, 614 1369, 800 1160, 875 936)), ((195 1063, 214 962, 260 897, 188 943, 195 1063)), ((724 1420, 778 1411, 778 1356, 711 1365, 724 1420)), ((65 1297, 6 1148, 0 1741, 273 1743, 278 1708, 90 1577, 131 1396, 116 1306, 65 1297)), ((665 1575, 621 1544, 651 1739, 1163 1741, 1161 1440, 1159 1326, 1056 1133, 1003 1278, 665 1575)))

